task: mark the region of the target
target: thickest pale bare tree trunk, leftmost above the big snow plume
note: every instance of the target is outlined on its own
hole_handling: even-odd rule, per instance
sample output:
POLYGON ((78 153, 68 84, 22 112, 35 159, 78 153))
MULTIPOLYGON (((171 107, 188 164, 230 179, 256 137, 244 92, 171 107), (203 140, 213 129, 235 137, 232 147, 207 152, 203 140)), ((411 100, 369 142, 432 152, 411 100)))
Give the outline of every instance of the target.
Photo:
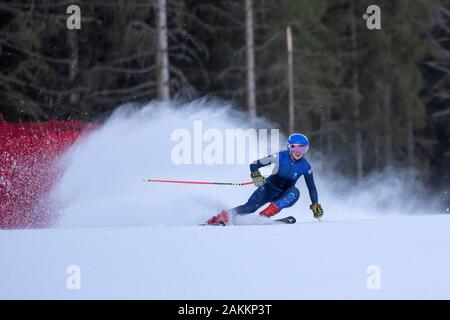
POLYGON ((156 69, 158 73, 158 99, 166 101, 170 98, 166 0, 158 0, 157 34, 158 52, 156 55, 156 69))

